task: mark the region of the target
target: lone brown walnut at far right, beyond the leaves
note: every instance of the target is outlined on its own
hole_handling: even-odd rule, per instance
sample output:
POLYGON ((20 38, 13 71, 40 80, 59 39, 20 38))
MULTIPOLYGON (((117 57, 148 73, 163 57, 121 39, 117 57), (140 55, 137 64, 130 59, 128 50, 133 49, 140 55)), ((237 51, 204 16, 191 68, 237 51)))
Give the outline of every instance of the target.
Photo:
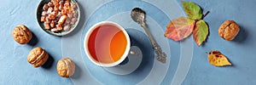
POLYGON ((234 20, 226 20, 218 28, 219 37, 223 37, 227 41, 233 40, 239 32, 239 26, 234 20))

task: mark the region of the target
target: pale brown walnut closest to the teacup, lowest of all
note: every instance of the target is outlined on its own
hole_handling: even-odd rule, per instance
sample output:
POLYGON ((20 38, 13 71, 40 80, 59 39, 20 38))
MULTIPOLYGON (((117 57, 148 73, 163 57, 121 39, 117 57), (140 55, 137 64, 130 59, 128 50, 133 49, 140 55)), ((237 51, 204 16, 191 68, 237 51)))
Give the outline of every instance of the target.
POLYGON ((75 64, 69 58, 60 59, 56 67, 59 76, 71 77, 75 71, 75 64))

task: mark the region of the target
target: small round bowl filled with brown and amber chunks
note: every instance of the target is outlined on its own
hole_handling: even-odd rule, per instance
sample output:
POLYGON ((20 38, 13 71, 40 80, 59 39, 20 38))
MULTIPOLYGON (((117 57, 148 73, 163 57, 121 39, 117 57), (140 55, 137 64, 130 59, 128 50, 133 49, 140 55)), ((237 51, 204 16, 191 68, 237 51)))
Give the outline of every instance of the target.
POLYGON ((79 24, 80 8, 75 0, 42 0, 38 4, 39 26, 49 34, 64 36, 79 24))

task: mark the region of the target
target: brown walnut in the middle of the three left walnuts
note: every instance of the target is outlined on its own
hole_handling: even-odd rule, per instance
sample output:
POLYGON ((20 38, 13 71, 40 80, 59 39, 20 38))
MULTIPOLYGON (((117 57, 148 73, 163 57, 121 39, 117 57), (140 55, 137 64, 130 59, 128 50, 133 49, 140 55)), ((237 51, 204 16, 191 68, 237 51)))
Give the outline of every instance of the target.
POLYGON ((27 61, 34 67, 44 65, 49 58, 49 54, 43 48, 33 48, 27 55, 27 61))

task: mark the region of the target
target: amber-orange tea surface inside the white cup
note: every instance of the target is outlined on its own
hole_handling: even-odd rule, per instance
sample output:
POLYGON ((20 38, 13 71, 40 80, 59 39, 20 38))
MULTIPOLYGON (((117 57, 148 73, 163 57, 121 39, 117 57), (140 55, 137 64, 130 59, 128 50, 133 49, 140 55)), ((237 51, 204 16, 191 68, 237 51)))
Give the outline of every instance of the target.
POLYGON ((127 38, 117 26, 103 24, 91 32, 87 45, 96 62, 110 64, 121 59, 125 53, 127 38))

